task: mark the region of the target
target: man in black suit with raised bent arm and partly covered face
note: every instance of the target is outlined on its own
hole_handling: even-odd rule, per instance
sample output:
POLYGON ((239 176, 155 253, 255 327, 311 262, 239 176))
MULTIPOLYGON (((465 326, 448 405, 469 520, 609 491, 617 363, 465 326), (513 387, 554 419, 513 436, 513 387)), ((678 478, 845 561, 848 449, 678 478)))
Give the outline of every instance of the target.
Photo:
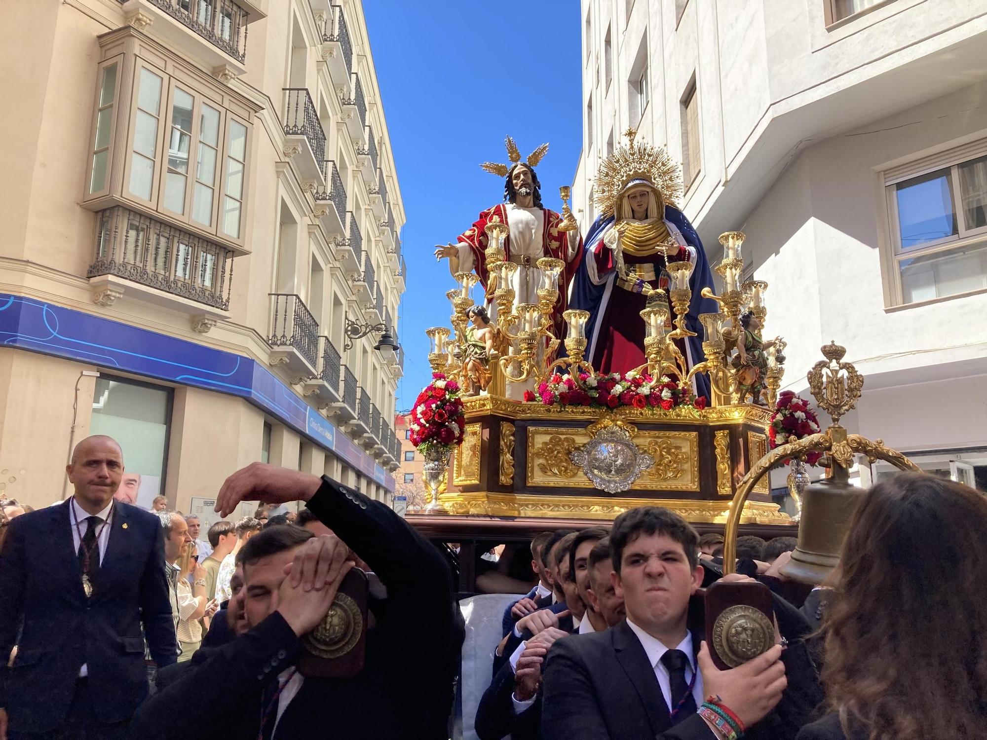
POLYGON ((135 736, 170 740, 175 707, 195 706, 183 717, 190 738, 448 737, 463 625, 442 555, 384 504, 328 478, 261 463, 227 479, 216 507, 228 513, 258 499, 306 501, 335 534, 271 527, 244 546, 250 629, 144 703, 135 736), (375 624, 363 670, 352 680, 303 677, 295 671, 300 636, 326 614, 353 556, 387 592, 370 602, 375 624), (422 634, 432 638, 415 636, 422 634))

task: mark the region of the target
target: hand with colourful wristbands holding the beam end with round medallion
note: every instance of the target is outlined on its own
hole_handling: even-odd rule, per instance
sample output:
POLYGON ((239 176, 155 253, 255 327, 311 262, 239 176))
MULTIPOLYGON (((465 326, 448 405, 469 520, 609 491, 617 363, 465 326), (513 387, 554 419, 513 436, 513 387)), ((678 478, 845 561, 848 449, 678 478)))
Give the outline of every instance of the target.
POLYGON ((713 664, 706 642, 699 650, 699 670, 703 674, 703 692, 720 697, 747 727, 760 721, 782 701, 788 686, 782 648, 775 645, 743 665, 721 671, 713 664))

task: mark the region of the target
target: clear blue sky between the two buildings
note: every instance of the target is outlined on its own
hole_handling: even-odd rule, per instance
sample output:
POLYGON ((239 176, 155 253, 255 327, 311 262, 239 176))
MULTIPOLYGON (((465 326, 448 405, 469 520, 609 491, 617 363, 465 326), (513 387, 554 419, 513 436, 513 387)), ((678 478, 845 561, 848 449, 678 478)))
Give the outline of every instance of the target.
POLYGON ((507 161, 505 135, 523 157, 551 142, 538 179, 545 204, 561 208, 582 139, 579 3, 364 0, 363 12, 408 216, 404 410, 430 379, 424 330, 449 325, 445 291, 455 281, 434 245, 455 241, 502 199, 502 179, 479 164, 507 161))

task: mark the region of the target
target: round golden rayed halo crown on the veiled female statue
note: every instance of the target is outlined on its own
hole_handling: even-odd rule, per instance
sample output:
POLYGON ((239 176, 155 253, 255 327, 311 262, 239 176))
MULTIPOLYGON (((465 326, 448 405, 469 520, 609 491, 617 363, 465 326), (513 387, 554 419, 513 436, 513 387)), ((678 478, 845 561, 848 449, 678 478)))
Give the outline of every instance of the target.
POLYGON ((682 195, 682 169, 658 146, 635 141, 638 132, 629 128, 627 146, 617 150, 600 164, 593 184, 596 207, 612 215, 624 188, 632 180, 644 179, 661 192, 665 204, 674 206, 682 195))

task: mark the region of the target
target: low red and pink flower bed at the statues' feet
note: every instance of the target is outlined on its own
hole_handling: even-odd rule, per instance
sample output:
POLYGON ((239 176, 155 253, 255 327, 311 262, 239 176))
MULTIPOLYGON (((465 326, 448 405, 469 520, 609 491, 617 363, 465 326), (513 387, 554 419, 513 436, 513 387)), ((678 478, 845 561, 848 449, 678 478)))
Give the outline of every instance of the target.
POLYGON ((584 406, 597 408, 635 407, 662 408, 692 404, 706 407, 706 397, 692 400, 692 390, 666 375, 653 378, 634 370, 621 375, 610 373, 579 373, 577 377, 556 373, 538 385, 537 393, 524 392, 527 402, 539 402, 545 406, 584 406))

